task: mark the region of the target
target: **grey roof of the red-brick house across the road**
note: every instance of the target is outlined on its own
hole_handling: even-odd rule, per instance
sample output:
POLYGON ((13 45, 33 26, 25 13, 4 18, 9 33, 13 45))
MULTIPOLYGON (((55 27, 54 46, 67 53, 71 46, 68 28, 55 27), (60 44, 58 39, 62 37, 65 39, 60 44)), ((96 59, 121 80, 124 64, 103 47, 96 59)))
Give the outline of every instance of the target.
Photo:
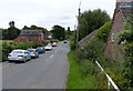
POLYGON ((41 30, 22 30, 20 36, 39 36, 42 33, 41 30))

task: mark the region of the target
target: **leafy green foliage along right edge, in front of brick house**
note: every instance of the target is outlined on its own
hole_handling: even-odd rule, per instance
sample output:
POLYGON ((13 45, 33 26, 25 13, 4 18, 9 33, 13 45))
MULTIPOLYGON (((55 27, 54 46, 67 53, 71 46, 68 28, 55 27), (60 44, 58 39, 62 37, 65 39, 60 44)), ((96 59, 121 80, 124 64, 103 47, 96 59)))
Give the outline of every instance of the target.
POLYGON ((125 30, 119 33, 120 42, 124 42, 124 88, 133 89, 133 14, 125 21, 125 30))

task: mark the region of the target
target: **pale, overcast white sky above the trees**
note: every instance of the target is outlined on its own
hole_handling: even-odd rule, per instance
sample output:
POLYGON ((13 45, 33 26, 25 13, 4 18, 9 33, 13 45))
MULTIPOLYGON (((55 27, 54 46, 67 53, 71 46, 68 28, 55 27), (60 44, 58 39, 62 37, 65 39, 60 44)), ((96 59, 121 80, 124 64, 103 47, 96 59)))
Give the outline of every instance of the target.
POLYGON ((19 29, 35 24, 51 30, 59 24, 73 30, 80 1, 81 13, 101 9, 113 17, 115 0, 0 0, 0 28, 7 29, 14 21, 19 29))

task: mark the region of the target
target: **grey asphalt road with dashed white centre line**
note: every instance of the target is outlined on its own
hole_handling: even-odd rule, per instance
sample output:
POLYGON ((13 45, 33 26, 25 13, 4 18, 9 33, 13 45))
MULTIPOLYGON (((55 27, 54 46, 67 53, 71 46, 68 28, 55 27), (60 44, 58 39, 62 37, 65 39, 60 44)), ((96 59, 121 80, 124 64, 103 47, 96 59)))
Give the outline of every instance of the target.
POLYGON ((60 42, 52 51, 27 63, 2 63, 3 89, 65 89, 68 43, 60 42))

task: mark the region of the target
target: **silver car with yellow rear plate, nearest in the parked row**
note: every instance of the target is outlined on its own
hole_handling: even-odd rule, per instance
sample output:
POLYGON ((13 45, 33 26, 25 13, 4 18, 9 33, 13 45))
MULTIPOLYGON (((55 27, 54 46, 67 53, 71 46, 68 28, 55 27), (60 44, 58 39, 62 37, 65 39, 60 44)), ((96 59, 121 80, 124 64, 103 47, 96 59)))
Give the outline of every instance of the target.
POLYGON ((11 53, 8 54, 8 61, 16 61, 16 62, 27 62, 30 60, 30 53, 27 50, 13 50, 11 53))

